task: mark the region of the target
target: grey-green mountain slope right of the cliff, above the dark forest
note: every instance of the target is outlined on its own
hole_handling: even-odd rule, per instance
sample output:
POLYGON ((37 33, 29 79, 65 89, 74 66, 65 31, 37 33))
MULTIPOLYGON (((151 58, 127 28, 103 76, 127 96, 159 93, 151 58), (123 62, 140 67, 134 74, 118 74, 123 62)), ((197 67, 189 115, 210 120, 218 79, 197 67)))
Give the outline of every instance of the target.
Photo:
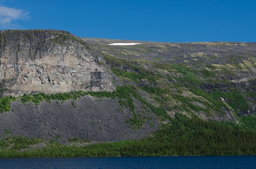
POLYGON ((112 72, 170 114, 236 121, 256 112, 256 43, 83 40, 105 53, 112 72), (114 42, 141 44, 108 45, 114 42))

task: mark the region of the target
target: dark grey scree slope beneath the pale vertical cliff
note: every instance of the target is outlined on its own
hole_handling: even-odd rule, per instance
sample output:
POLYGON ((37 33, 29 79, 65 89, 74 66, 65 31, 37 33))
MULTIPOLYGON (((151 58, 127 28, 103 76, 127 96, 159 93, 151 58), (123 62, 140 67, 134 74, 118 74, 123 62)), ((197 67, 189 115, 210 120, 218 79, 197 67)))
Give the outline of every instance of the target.
POLYGON ((60 135, 58 141, 61 142, 73 137, 110 142, 141 139, 159 126, 157 116, 151 111, 143 112, 142 104, 137 100, 134 100, 137 114, 149 119, 141 129, 126 123, 134 116, 130 108, 122 109, 117 98, 84 96, 76 100, 76 107, 72 106, 72 101, 43 101, 38 106, 12 102, 13 111, 0 113, 0 138, 5 136, 5 130, 9 130, 11 135, 45 139, 60 135))

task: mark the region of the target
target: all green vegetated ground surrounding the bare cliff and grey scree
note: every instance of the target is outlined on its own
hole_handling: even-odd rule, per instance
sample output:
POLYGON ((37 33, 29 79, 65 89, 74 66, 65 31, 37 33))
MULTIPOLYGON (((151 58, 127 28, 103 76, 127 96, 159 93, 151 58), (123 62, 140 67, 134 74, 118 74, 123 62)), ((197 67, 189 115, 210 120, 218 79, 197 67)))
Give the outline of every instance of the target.
MULTIPOLYGON (((190 50, 192 44, 108 46, 92 40, 90 45, 103 52, 105 63, 99 64, 109 66, 119 80, 116 83, 121 85, 117 85, 114 92, 1 97, 0 111, 10 112, 12 101, 38 105, 43 100, 72 99, 72 106, 76 106, 76 100, 85 95, 110 97, 118 98, 122 107, 131 110, 133 117, 126 123, 141 128, 145 119, 136 112, 135 98, 157 115, 160 128, 141 140, 93 143, 93 140, 73 137, 69 139, 70 145, 59 143, 61 136, 44 140, 12 136, 6 131, 0 140, 0 158, 256 155, 255 52, 223 56, 201 52, 166 60, 168 52, 180 50, 180 45, 190 50), (245 82, 241 80, 244 77, 245 82), (40 143, 45 146, 38 148, 40 143)), ((224 50, 227 46, 246 44, 201 45, 224 50)))

